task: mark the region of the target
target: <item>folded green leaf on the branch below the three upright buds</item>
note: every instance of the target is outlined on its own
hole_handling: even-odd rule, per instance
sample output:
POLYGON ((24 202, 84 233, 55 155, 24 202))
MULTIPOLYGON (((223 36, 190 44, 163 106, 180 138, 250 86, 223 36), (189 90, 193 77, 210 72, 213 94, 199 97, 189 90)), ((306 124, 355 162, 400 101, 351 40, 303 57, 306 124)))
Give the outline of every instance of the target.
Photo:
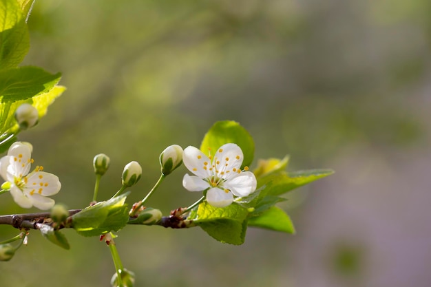
POLYGON ((119 231, 129 220, 125 200, 130 192, 98 202, 72 215, 72 227, 83 236, 97 236, 119 231))

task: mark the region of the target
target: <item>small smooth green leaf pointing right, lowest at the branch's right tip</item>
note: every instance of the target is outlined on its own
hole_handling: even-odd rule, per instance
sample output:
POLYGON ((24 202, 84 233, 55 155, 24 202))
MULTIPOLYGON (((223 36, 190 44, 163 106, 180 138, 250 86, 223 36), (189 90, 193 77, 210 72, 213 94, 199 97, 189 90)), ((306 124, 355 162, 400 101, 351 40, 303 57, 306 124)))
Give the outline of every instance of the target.
POLYGON ((293 227, 291 217, 276 206, 272 206, 257 217, 249 218, 248 223, 249 226, 266 228, 285 233, 295 233, 295 227, 293 227))

